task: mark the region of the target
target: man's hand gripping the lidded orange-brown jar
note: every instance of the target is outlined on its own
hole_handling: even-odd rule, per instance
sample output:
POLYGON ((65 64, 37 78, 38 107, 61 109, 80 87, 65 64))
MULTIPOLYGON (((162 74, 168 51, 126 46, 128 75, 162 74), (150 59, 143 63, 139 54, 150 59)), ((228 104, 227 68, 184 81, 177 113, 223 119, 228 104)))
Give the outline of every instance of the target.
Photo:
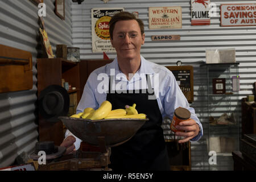
POLYGON ((179 125, 176 126, 178 130, 184 130, 185 132, 177 131, 175 134, 180 137, 185 137, 179 140, 179 143, 188 142, 190 139, 196 137, 199 134, 199 125, 197 125, 194 119, 188 119, 186 121, 181 121, 179 125))

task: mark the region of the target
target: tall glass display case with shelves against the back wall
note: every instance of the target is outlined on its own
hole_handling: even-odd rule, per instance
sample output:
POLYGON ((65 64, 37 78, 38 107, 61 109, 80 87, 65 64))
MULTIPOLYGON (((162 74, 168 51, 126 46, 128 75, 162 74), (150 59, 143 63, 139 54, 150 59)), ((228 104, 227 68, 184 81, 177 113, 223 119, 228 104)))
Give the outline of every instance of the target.
POLYGON ((201 122, 209 170, 233 170, 239 150, 241 104, 239 63, 201 64, 201 122))

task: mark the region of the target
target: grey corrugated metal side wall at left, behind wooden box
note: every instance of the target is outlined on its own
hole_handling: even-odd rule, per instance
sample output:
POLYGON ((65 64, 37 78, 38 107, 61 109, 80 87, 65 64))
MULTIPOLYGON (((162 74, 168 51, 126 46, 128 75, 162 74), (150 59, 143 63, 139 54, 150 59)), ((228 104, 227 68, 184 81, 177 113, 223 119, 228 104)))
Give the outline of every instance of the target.
MULTIPOLYGON (((55 13, 55 0, 44 0, 44 22, 53 53, 56 44, 72 46, 71 0, 65 1, 65 20, 55 13)), ((33 88, 0 93, 0 167, 10 166, 38 141, 36 121, 36 56, 40 53, 38 7, 28 0, 0 0, 0 44, 32 53, 33 88)), ((3 79, 3 78, 1 78, 3 79)))

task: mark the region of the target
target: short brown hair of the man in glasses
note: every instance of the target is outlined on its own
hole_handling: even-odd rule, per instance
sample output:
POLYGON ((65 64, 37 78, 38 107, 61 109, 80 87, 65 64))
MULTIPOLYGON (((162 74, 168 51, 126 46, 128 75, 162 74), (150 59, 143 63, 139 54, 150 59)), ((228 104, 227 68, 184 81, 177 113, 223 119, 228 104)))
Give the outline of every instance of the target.
POLYGON ((113 39, 113 31, 115 28, 115 23, 121 20, 136 20, 139 23, 139 27, 141 28, 141 35, 144 34, 144 23, 141 19, 138 19, 135 17, 135 15, 127 12, 127 11, 121 11, 117 14, 114 14, 109 22, 109 32, 110 32, 110 39, 113 39))

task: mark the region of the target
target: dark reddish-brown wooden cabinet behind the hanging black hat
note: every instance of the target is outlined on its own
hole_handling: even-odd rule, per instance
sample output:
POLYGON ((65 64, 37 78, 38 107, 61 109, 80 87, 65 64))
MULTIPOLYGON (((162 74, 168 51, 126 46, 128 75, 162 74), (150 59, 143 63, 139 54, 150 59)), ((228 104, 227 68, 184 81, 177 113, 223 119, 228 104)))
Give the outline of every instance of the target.
MULTIPOLYGON (((75 87, 75 90, 68 91, 71 95, 77 94, 77 104, 79 103, 84 85, 94 69, 100 68, 113 60, 81 60, 75 63, 61 58, 37 59, 38 96, 40 92, 49 85, 60 85, 61 79, 75 87)), ((75 110, 76 108, 74 108, 75 110)), ((52 140, 59 146, 64 139, 65 128, 61 121, 55 123, 47 122, 39 114, 39 141, 52 140)))

